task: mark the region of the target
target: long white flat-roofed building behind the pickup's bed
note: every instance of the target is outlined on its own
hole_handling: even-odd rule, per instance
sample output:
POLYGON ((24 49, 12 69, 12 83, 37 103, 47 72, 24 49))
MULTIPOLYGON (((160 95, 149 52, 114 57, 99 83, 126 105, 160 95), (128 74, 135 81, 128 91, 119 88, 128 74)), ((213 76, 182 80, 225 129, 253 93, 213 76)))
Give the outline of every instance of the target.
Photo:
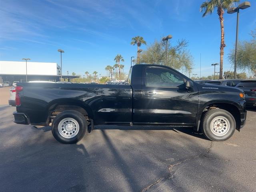
MULTIPOLYGON (((0 61, 0 83, 4 81, 60 81, 60 66, 57 63, 27 62, 26 61, 0 61)), ((63 75, 64 81, 70 81, 79 76, 63 75)))

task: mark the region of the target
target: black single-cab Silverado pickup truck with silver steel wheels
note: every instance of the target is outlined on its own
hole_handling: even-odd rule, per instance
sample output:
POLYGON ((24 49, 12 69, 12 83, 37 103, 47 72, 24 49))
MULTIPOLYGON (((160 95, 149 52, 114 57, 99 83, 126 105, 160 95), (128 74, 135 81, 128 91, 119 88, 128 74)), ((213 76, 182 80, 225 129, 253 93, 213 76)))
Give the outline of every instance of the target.
POLYGON ((51 124, 64 144, 101 124, 192 127, 223 141, 245 125, 245 106, 238 88, 199 84, 167 66, 138 64, 122 85, 17 83, 13 114, 17 124, 51 124))

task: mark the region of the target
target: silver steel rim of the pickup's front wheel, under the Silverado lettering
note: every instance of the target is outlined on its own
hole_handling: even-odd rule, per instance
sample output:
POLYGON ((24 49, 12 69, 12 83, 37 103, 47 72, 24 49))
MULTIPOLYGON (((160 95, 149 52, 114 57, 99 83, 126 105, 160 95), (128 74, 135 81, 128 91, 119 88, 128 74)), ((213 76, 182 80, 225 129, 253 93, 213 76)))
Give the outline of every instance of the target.
POLYGON ((215 117, 211 124, 211 131, 216 136, 223 136, 228 133, 230 129, 230 122, 223 116, 215 117))

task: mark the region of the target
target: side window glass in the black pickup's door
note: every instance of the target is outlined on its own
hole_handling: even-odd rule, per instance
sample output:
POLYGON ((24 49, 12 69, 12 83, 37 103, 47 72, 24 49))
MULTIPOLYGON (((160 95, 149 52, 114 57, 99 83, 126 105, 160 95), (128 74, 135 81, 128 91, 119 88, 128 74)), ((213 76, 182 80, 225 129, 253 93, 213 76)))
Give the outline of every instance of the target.
POLYGON ((146 68, 146 86, 177 87, 183 83, 182 77, 168 69, 158 67, 146 68))

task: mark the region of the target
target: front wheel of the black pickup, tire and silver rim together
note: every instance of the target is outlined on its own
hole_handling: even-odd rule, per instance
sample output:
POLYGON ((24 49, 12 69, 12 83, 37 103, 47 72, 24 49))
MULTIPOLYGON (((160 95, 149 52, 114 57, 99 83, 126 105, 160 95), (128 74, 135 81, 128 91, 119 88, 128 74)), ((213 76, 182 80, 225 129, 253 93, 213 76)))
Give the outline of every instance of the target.
POLYGON ((226 110, 211 109, 202 117, 201 130, 209 140, 225 141, 234 134, 236 120, 226 110))

